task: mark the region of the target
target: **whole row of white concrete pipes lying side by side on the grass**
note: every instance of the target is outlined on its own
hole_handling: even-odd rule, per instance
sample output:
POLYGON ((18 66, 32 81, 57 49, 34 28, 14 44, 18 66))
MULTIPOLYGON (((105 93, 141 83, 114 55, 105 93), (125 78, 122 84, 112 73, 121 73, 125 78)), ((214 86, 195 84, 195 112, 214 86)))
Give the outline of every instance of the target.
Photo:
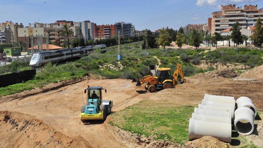
POLYGON ((234 111, 234 97, 205 94, 189 120, 189 140, 207 135, 231 143, 234 111))

